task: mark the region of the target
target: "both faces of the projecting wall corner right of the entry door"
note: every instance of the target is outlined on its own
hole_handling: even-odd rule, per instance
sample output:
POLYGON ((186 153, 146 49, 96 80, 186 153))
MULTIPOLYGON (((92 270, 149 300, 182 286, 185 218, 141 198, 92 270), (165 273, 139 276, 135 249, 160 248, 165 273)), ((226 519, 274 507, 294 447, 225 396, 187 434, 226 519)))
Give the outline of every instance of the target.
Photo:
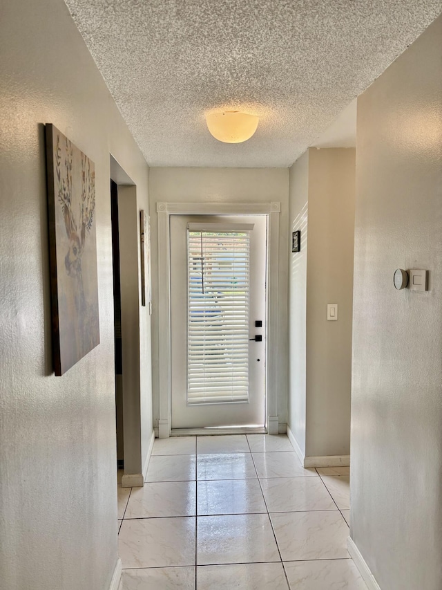
POLYGON ((291 167, 290 428, 306 457, 349 454, 355 151, 309 149, 291 167), (327 321, 327 304, 338 321, 327 321))

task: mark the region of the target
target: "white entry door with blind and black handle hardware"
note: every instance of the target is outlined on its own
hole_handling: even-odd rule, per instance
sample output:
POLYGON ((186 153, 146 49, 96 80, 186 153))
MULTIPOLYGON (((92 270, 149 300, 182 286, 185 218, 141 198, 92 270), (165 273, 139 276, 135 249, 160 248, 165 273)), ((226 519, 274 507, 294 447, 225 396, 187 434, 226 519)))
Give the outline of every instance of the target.
POLYGON ((170 223, 172 428, 262 427, 267 216, 170 223))

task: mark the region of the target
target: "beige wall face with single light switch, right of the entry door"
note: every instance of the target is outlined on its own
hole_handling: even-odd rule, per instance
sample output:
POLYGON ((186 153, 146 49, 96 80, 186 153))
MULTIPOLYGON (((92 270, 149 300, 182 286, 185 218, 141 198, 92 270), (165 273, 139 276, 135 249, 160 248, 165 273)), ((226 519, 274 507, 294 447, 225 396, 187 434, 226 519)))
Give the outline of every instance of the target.
POLYGON ((309 149, 307 457, 350 453, 355 174, 353 148, 309 149))

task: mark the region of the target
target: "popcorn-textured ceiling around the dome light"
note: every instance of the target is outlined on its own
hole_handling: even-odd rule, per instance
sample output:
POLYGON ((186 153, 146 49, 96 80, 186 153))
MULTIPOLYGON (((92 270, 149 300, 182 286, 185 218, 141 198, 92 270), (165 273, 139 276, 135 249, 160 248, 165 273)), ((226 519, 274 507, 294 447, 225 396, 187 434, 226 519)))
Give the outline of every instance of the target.
POLYGON ((442 0, 66 0, 151 166, 286 167, 442 0), (204 113, 258 114, 222 144, 204 113))

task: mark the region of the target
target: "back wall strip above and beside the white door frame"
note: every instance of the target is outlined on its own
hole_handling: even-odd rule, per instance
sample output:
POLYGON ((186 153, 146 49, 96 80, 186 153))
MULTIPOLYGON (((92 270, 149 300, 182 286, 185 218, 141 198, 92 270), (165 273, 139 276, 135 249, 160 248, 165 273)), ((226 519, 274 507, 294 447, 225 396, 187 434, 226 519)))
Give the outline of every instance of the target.
MULTIPOLYGON (((153 348, 153 416, 157 426, 158 409, 158 269, 157 215, 159 202, 169 203, 252 203, 280 201, 280 264, 279 264, 279 330, 282 351, 287 350, 287 254, 289 172, 285 168, 151 168, 149 196, 151 199, 152 242, 152 348, 153 348)), ((287 354, 280 358, 280 391, 278 417, 282 427, 287 423, 287 354)))

